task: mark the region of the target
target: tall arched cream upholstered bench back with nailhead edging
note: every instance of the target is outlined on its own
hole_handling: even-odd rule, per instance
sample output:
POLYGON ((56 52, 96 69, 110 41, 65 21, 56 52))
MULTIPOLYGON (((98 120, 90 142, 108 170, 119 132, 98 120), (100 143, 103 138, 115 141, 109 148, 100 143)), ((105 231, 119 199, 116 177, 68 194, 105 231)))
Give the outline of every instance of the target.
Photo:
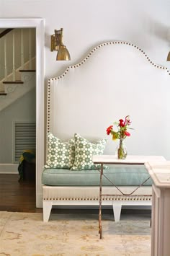
POLYGON ((170 159, 170 72, 132 43, 102 43, 80 63, 48 81, 48 131, 62 140, 79 133, 91 141, 107 138, 106 128, 130 115, 128 154, 170 159))

